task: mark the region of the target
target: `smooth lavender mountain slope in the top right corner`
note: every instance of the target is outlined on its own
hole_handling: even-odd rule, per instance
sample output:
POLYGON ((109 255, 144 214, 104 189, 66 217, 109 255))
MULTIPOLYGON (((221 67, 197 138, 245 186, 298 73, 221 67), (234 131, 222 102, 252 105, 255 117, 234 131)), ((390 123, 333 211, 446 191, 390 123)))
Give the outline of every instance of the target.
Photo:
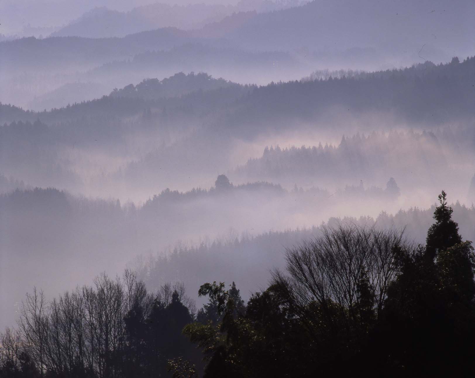
POLYGON ((444 52, 472 54, 473 14, 475 2, 464 0, 320 0, 257 14, 222 37, 250 49, 378 48, 438 61, 444 52))

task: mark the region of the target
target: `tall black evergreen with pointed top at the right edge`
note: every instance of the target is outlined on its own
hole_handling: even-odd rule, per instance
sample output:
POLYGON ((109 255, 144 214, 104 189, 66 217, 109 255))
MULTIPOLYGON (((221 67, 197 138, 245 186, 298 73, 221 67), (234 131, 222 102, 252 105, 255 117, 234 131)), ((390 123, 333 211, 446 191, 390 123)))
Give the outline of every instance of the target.
POLYGON ((465 341, 475 335, 474 249, 462 242, 444 191, 428 230, 427 246, 399 250, 375 349, 392 374, 475 373, 465 341))

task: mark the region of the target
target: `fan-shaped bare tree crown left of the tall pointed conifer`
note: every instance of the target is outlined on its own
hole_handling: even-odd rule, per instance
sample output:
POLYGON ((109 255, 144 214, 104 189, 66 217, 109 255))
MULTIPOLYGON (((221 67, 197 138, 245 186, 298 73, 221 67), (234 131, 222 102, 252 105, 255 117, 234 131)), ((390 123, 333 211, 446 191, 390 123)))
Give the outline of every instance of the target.
POLYGON ((364 300, 371 301, 371 310, 378 316, 399 271, 398 249, 413 248, 403 232, 354 224, 323 227, 319 237, 286 251, 288 275, 275 271, 275 287, 297 313, 316 303, 330 317, 331 305, 342 315, 340 319, 349 321, 359 316, 364 284, 364 295, 371 297, 364 300))

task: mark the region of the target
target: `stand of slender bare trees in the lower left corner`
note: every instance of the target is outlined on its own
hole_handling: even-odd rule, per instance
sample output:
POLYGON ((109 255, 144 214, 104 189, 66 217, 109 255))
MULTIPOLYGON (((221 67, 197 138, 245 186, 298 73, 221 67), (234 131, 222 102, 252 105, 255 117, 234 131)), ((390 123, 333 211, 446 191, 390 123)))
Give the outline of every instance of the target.
POLYGON ((154 301, 167 307, 174 292, 194 314, 196 305, 183 283, 166 283, 154 295, 130 270, 122 280, 102 273, 93 286, 66 291, 50 302, 35 288, 22 302, 18 331, 0 334, 0 366, 8 363, 18 369, 25 352, 41 374, 119 377, 121 359, 131 342, 125 318, 132 311, 145 322, 154 301))

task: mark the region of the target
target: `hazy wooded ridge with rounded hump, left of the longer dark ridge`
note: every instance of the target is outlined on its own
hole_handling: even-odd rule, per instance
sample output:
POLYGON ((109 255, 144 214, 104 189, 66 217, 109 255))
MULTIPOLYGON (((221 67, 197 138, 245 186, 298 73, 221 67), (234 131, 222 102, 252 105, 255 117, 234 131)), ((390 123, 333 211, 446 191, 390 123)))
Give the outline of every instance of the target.
POLYGON ((153 118, 158 121, 158 124, 162 124, 169 118, 188 119, 190 109, 194 117, 201 113, 211 112, 213 120, 216 120, 214 113, 222 107, 230 107, 238 98, 255 87, 226 82, 223 79, 207 80, 207 85, 202 85, 200 81, 185 80, 185 82, 192 81, 185 84, 182 83, 180 74, 165 79, 169 80, 166 84, 158 84, 162 83, 158 80, 151 83, 151 80, 153 79, 142 81, 137 86, 131 84, 113 91, 109 96, 104 95, 94 100, 82 101, 59 109, 45 109, 41 112, 23 110, 10 104, 0 103, 0 123, 33 122, 39 118, 48 125, 60 123, 67 125, 76 120, 83 122, 86 120, 96 123, 105 121, 104 126, 107 126, 114 120, 141 114, 147 107, 157 110, 153 112, 153 118), (165 88, 162 89, 162 86, 165 88))

